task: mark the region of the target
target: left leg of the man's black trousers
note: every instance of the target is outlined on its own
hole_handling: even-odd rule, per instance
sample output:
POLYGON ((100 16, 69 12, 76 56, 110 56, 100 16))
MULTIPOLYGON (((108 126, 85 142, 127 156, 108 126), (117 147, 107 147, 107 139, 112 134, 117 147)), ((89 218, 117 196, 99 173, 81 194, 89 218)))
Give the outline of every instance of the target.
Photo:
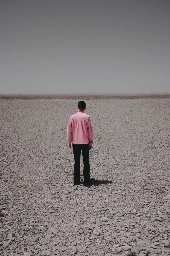
POLYGON ((77 144, 73 145, 73 154, 74 154, 74 183, 80 183, 80 155, 81 155, 81 146, 77 144))

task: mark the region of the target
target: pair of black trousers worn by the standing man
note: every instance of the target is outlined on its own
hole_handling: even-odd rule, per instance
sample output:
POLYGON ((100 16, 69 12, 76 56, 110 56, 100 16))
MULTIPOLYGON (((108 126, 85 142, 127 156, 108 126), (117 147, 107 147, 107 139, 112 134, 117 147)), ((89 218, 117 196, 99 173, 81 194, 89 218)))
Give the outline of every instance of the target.
POLYGON ((74 183, 80 183, 80 155, 83 155, 83 178, 84 184, 90 183, 90 164, 89 164, 89 143, 88 144, 73 144, 74 154, 74 183))

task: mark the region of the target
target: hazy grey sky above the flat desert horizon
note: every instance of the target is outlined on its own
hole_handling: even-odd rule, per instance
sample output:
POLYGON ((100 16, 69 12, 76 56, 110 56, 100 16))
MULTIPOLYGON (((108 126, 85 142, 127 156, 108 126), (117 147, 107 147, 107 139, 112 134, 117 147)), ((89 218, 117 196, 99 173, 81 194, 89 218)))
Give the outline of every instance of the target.
POLYGON ((169 0, 0 0, 0 93, 170 92, 169 0))

